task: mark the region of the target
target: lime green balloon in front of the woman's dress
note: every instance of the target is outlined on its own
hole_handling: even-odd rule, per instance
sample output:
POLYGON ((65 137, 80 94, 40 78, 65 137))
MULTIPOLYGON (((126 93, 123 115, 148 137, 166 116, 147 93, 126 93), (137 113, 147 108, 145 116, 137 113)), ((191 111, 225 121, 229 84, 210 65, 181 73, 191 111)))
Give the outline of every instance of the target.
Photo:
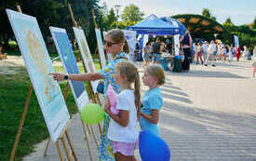
POLYGON ((82 108, 81 118, 88 125, 95 125, 104 119, 104 110, 99 104, 88 103, 82 108))

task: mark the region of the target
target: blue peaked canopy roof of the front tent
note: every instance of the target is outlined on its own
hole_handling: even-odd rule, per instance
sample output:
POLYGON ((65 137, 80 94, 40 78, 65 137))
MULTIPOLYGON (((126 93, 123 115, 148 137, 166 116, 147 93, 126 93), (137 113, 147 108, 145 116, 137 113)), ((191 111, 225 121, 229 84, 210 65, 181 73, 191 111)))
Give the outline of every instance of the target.
POLYGON ((174 35, 180 34, 179 26, 173 26, 169 22, 160 20, 154 14, 141 20, 127 30, 136 31, 137 34, 174 35))

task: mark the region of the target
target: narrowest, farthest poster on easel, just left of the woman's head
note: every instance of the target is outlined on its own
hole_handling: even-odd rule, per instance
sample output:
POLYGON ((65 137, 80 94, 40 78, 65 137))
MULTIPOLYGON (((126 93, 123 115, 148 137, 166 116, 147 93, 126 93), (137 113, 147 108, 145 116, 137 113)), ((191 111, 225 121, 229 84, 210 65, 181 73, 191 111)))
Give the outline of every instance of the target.
POLYGON ((96 34, 97 43, 98 43, 98 50, 100 53, 101 67, 104 68, 106 66, 106 58, 105 58, 103 43, 101 39, 101 31, 99 29, 95 29, 95 34, 96 34))

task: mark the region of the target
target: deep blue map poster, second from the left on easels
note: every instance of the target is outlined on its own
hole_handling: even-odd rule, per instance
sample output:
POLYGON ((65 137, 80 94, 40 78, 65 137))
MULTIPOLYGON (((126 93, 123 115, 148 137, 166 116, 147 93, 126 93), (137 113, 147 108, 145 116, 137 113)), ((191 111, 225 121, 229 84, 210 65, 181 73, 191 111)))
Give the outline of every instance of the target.
MULTIPOLYGON (((66 30, 56 27, 49 27, 49 29, 53 37, 54 44, 58 50, 59 55, 61 56, 61 61, 66 70, 66 73, 79 74, 72 45, 70 44, 66 30)), ((89 102, 85 84, 81 81, 69 81, 69 84, 72 89, 78 110, 81 111, 82 108, 89 102)))

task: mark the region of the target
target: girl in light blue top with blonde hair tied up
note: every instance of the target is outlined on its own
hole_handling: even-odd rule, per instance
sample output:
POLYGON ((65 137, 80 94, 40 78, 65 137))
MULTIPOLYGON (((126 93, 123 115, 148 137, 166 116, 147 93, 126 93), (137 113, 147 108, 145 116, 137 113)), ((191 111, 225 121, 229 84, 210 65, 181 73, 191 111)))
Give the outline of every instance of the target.
POLYGON ((159 136, 159 111, 163 105, 163 98, 159 86, 165 83, 165 72, 158 64, 146 67, 142 77, 143 84, 149 89, 145 92, 142 99, 141 130, 148 130, 159 136))

